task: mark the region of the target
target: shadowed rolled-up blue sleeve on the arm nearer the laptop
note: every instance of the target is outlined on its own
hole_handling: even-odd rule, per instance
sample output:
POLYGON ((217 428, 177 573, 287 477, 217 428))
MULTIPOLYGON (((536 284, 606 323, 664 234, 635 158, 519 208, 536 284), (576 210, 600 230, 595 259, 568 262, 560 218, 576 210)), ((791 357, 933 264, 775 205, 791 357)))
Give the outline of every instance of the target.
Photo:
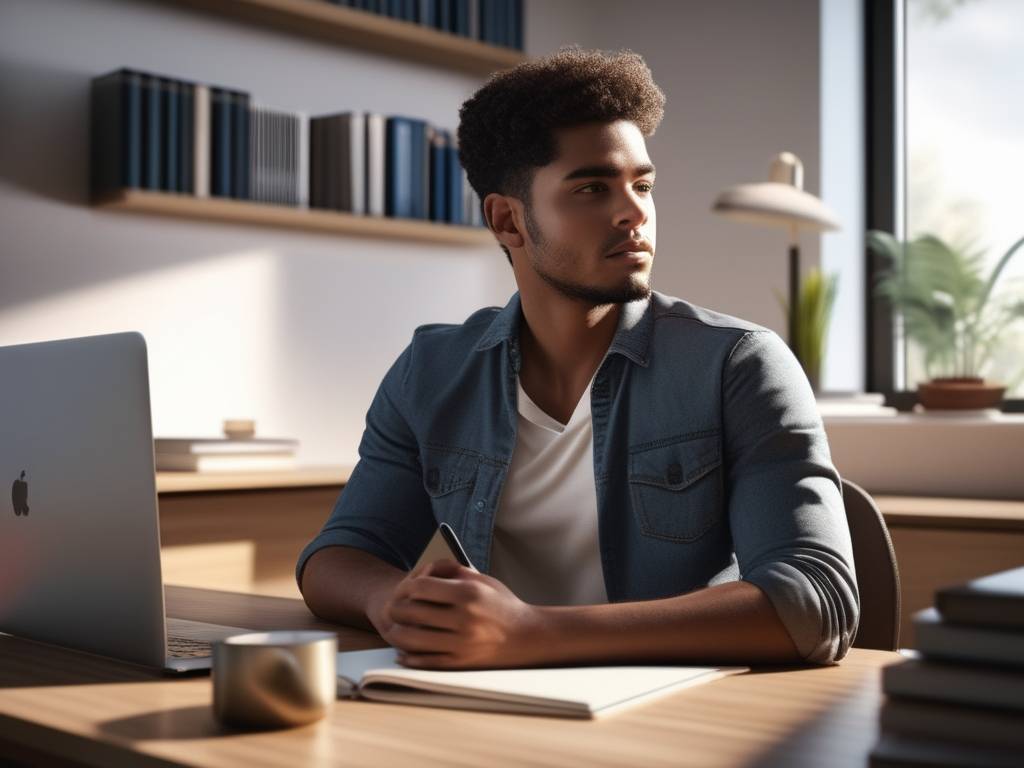
POLYGON ((295 578, 300 585, 306 562, 325 547, 355 547, 409 569, 436 527, 417 441, 403 414, 410 357, 407 348, 374 396, 358 463, 324 527, 299 555, 295 578))

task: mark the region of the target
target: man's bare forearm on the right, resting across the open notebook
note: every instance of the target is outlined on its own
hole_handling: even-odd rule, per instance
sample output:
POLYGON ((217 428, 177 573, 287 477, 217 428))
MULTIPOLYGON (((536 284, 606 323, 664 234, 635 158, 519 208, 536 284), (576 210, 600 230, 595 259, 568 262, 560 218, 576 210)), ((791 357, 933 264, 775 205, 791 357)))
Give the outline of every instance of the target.
POLYGON ((748 582, 660 600, 540 610, 537 647, 545 664, 802 660, 771 601, 748 582))

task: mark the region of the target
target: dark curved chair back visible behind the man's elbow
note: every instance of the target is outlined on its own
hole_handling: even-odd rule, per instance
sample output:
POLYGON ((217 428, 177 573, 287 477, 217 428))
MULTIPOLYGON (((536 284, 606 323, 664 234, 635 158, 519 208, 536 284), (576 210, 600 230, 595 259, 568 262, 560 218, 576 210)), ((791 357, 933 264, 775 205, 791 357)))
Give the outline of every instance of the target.
POLYGON ((867 492, 843 480, 843 505, 853 541, 853 565, 860 592, 857 648, 896 650, 899 644, 899 568, 889 529, 867 492))

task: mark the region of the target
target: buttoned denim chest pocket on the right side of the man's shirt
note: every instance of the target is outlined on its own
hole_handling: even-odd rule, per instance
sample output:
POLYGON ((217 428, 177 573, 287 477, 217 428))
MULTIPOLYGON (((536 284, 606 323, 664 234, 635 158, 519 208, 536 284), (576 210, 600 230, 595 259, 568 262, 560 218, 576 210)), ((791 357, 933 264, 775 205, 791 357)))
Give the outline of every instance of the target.
POLYGON ((722 449, 718 433, 630 450, 630 500, 645 536, 699 539, 722 518, 722 449))

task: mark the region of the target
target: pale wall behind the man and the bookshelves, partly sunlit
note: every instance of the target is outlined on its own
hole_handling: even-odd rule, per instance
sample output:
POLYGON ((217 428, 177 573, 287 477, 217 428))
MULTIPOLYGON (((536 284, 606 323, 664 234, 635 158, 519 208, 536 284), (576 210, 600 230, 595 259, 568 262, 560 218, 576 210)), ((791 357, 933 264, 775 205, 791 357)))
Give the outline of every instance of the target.
MULTIPOLYGON (((669 96, 656 287, 776 330, 781 232, 714 217, 717 193, 792 150, 818 179, 816 0, 527 2, 530 52, 642 52, 669 96)), ((479 79, 173 4, 5 0, 0 9, 0 344, 136 329, 157 434, 254 417, 306 462, 350 461, 381 376, 418 324, 514 290, 497 249, 113 214, 87 206, 88 84, 119 67, 313 114, 366 109, 455 128, 479 79)), ((805 242, 807 262, 817 244, 805 242)), ((0 396, 2 396, 0 383, 0 396)))

